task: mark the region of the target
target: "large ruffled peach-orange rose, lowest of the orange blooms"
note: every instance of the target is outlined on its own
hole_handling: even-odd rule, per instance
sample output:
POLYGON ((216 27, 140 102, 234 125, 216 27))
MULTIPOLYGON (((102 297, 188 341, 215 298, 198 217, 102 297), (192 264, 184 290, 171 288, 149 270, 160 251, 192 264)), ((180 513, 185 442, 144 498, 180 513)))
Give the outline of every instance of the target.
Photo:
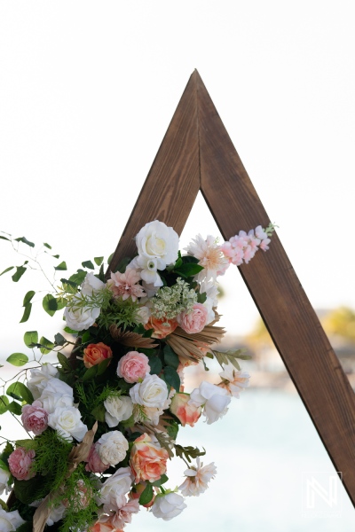
POLYGON ((136 482, 158 481, 167 470, 168 451, 153 443, 148 434, 142 434, 130 451, 130 467, 136 482))

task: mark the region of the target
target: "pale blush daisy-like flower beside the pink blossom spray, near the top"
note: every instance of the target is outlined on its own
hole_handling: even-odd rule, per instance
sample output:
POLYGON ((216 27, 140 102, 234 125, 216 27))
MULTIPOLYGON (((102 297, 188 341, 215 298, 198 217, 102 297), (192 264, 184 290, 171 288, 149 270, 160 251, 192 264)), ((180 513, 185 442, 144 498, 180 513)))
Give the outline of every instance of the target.
POLYGON ((216 282, 217 276, 224 275, 229 266, 229 260, 222 253, 221 246, 218 246, 217 240, 211 235, 206 240, 202 239, 201 235, 197 235, 185 251, 196 257, 200 266, 204 268, 196 277, 199 283, 203 280, 209 281, 211 278, 216 282))

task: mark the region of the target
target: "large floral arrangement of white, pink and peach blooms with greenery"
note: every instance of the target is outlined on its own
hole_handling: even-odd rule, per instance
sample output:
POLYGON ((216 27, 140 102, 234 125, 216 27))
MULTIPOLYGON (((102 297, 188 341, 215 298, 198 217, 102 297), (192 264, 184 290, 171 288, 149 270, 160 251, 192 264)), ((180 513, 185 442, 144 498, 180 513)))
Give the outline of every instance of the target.
MULTIPOLYGON (((248 358, 244 350, 215 348, 224 335, 217 277, 266 251, 272 231, 258 226, 221 245, 199 235, 183 255, 177 233, 155 220, 138 232, 138 254, 107 280, 103 257, 83 262, 60 286, 46 276, 51 293, 43 309, 51 316, 64 309, 66 336, 50 341, 26 332, 33 360, 23 353, 7 358, 26 368, 9 386, 3 380, 0 413, 11 412, 28 435, 16 442, 0 436, 0 493, 11 492, 0 508, 3 532, 120 532, 140 506, 170 520, 184 510, 184 497, 208 488, 216 466, 201 463, 204 450, 179 445, 177 433, 201 417, 216 422, 248 386, 237 360, 248 358), (51 351, 58 363, 43 362, 51 351), (186 391, 185 367, 205 365, 205 357, 221 365, 219 382, 186 391), (171 489, 167 464, 174 456, 185 462, 185 481, 171 489)), ((15 270, 18 282, 28 268, 42 270, 35 244, 3 235, 17 251, 31 252, 3 273, 15 270)), ((51 254, 49 244, 40 249, 51 254)), ((66 262, 54 270, 62 274, 66 262)), ((25 295, 21 322, 34 296, 25 295)))

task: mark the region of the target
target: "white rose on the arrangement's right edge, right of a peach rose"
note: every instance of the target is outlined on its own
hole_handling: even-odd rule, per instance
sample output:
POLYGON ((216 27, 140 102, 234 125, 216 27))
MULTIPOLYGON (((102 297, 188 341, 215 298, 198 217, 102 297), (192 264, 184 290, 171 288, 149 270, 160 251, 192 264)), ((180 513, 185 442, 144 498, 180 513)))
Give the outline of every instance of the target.
POLYGON ((211 384, 204 380, 200 387, 195 388, 190 394, 188 404, 194 406, 204 406, 203 414, 206 417, 207 424, 210 425, 222 418, 228 411, 228 404, 231 403, 231 397, 228 392, 221 387, 211 384))

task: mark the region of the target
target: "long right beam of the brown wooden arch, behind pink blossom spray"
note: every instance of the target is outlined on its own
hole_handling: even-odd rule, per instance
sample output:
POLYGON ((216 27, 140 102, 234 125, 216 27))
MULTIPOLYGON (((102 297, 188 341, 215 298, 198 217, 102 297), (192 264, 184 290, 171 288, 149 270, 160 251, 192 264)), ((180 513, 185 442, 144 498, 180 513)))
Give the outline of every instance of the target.
MULTIPOLYGON (((201 192, 225 239, 270 219, 198 78, 201 192)), ((300 253, 302 250, 300 249, 300 253)), ((335 470, 355 503, 355 395, 277 235, 240 268, 335 470)))

